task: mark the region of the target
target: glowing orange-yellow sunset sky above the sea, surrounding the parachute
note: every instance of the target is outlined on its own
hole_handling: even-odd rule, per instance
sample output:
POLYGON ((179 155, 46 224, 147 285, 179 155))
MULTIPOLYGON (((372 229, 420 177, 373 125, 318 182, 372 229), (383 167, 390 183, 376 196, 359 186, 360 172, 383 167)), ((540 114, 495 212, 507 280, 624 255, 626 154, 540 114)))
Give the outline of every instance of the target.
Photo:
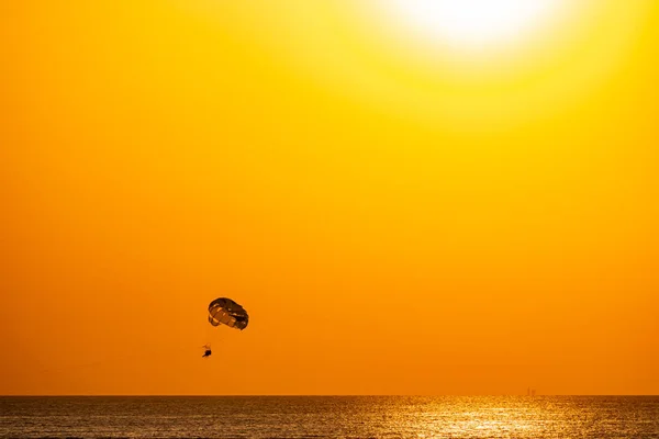
POLYGON ((529 1, 2 2, 0 394, 659 394, 659 2, 529 1))

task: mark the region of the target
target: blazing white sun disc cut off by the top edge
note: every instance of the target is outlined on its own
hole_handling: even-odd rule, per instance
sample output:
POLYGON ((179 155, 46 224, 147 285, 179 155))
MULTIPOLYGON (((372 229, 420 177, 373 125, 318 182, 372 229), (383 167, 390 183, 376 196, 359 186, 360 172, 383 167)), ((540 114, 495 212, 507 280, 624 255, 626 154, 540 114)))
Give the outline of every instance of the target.
POLYGON ((414 33, 465 48, 523 43, 563 0, 388 0, 414 33))

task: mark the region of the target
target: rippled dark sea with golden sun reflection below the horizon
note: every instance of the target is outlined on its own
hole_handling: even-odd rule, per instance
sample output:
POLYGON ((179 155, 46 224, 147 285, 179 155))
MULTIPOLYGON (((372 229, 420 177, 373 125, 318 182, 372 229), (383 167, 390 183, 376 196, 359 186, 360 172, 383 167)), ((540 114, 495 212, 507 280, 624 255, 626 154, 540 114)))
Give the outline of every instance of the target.
POLYGON ((0 437, 659 438, 659 397, 0 397, 0 437))

